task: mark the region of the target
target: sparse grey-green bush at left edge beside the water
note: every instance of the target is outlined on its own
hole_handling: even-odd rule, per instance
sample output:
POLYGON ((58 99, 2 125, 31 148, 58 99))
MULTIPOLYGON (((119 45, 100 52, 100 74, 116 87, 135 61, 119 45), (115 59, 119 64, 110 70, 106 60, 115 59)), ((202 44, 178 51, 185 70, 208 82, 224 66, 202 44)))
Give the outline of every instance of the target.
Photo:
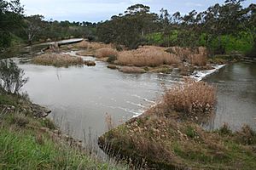
POLYGON ((8 93, 18 94, 20 88, 28 81, 25 73, 12 59, 0 61, 0 86, 8 93))

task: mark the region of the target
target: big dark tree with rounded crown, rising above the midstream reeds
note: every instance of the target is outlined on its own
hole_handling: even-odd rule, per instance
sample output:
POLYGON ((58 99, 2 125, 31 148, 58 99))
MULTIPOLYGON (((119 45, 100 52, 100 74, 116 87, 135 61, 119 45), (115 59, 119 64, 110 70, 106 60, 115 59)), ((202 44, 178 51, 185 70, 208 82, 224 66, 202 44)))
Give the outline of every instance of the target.
POLYGON ((157 18, 157 14, 149 13, 148 6, 132 5, 127 8, 125 14, 114 15, 111 20, 100 23, 96 34, 102 42, 137 48, 144 43, 145 34, 152 31, 157 18))

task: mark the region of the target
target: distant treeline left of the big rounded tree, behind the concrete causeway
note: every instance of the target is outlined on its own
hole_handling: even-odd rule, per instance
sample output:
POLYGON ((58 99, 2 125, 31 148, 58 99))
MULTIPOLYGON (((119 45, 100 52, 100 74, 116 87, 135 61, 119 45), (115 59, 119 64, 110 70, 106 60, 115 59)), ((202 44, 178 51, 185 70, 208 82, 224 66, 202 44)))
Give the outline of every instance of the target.
POLYGON ((0 48, 69 37, 95 39, 96 23, 44 20, 42 15, 25 16, 20 0, 0 0, 0 48))

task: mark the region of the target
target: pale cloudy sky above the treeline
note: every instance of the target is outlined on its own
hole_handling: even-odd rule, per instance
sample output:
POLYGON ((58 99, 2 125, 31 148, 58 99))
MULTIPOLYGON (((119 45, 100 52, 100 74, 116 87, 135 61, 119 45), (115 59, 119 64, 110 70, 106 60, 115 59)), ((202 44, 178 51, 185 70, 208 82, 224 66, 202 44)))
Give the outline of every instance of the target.
MULTIPOLYGON (((247 0, 247 5, 255 0, 247 0)), ((195 9, 202 11, 224 0, 20 0, 27 15, 42 14, 45 20, 70 20, 98 22, 108 20, 114 14, 124 13, 132 4, 143 3, 151 11, 159 14, 160 8, 169 13, 180 11, 182 14, 195 9)))

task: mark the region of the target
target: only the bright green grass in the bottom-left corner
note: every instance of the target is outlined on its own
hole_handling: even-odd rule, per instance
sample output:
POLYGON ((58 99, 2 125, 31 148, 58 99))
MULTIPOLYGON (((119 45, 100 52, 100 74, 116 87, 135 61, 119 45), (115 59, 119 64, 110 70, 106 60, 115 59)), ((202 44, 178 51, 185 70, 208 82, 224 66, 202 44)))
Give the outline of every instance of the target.
POLYGON ((107 169, 108 165, 55 144, 43 135, 38 144, 31 131, 0 130, 0 169, 107 169))

